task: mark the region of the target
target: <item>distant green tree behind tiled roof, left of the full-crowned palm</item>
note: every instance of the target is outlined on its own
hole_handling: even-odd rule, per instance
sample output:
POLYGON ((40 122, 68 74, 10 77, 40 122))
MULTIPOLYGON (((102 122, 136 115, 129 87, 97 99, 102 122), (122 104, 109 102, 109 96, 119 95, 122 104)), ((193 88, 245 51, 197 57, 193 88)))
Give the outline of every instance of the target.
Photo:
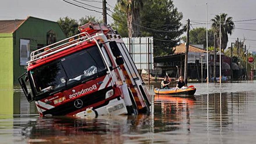
MULTIPOLYGON (((186 36, 182 37, 182 40, 186 42, 186 36)), ((206 49, 206 28, 199 27, 189 31, 189 43, 194 45, 204 45, 206 49)), ((208 30, 208 48, 214 47, 214 31, 208 30)))

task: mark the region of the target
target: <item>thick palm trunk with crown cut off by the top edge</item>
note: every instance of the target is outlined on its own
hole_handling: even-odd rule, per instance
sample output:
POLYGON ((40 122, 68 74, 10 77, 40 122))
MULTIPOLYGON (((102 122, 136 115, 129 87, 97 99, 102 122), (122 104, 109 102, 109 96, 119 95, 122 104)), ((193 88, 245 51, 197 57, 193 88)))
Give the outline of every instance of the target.
POLYGON ((137 37, 140 35, 140 8, 143 0, 117 0, 125 9, 127 14, 128 36, 137 37))

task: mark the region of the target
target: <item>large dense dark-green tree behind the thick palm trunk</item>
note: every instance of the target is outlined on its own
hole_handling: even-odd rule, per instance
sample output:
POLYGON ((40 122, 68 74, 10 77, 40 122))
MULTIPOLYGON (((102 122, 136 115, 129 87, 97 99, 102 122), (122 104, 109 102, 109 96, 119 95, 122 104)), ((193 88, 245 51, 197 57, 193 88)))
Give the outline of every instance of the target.
MULTIPOLYGON (((122 36, 129 31, 125 18, 127 13, 123 5, 115 5, 114 26, 122 36)), ((147 0, 143 1, 140 11, 140 36, 154 37, 154 55, 172 54, 180 35, 186 30, 181 20, 183 15, 178 12, 171 0, 147 0)))

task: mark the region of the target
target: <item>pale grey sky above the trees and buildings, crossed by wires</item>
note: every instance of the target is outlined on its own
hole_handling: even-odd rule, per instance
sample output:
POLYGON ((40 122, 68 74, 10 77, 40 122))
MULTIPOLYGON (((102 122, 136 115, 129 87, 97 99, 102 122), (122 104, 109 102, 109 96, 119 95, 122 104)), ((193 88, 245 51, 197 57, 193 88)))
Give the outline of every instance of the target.
MULTIPOLYGON (((74 0, 67 0, 72 1, 74 0)), ((102 12, 102 0, 80 0, 83 3, 92 5, 98 8, 92 8, 84 6, 86 8, 94 9, 102 12)), ((113 11, 116 0, 106 0, 107 7, 113 11)), ((228 16, 233 17, 234 21, 256 19, 256 1, 254 0, 173 0, 175 6, 179 12, 183 13, 183 22, 189 18, 191 24, 193 21, 206 22, 206 3, 208 5, 208 21, 214 17, 214 15, 221 13, 227 13, 228 16)), ((108 11, 111 15, 111 12, 108 11)), ((63 0, 1 0, 0 5, 0 20, 6 19, 25 19, 27 16, 39 17, 42 19, 48 19, 57 21, 60 17, 71 17, 79 19, 86 15, 93 15, 97 19, 102 19, 102 14, 79 8, 66 3, 63 0)), ((113 19, 108 16, 108 23, 112 23, 113 19)), ((195 23, 194 23, 195 24, 195 23)), ((206 27, 205 24, 192 25, 196 27, 206 27)), ((245 41, 246 47, 250 47, 249 51, 256 51, 256 20, 235 22, 235 27, 231 36, 229 36, 228 47, 231 42, 234 42, 236 38, 247 39, 245 41), (250 30, 243 30, 250 29, 250 30)), ((208 29, 211 28, 211 24, 208 24, 208 29)))

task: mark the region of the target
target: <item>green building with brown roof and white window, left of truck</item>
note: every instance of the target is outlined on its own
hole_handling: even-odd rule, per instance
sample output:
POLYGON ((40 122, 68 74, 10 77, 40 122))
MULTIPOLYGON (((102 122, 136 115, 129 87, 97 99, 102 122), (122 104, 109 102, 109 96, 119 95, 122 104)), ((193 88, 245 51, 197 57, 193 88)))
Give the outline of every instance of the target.
POLYGON ((0 88, 18 85, 30 53, 66 38, 57 22, 27 17, 23 20, 0 20, 0 88))

